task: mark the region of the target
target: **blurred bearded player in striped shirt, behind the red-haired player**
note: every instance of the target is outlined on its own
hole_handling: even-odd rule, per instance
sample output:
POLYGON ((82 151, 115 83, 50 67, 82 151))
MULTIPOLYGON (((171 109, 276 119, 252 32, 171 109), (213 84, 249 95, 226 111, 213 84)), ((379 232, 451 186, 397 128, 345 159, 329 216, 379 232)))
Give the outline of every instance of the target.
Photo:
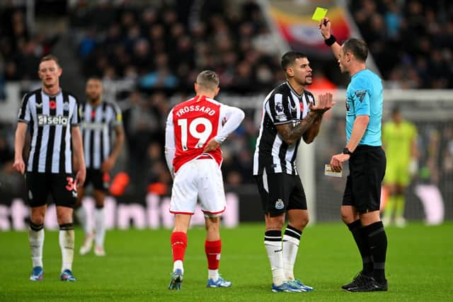
POLYGON ((122 117, 120 108, 114 103, 102 100, 103 91, 100 79, 91 78, 86 82, 87 101, 81 105, 81 133, 84 141, 86 163, 85 187, 90 182, 93 184, 93 197, 96 200, 93 228, 88 225, 86 210, 81 207, 84 197, 84 187, 79 190, 76 214, 84 229, 84 244, 80 248, 81 255, 86 255, 91 250, 93 239, 96 239, 94 253, 98 256, 105 255, 105 219, 104 199, 108 191, 110 176, 109 171, 115 165, 124 142, 122 117), (115 144, 112 147, 112 130, 115 131, 115 144))

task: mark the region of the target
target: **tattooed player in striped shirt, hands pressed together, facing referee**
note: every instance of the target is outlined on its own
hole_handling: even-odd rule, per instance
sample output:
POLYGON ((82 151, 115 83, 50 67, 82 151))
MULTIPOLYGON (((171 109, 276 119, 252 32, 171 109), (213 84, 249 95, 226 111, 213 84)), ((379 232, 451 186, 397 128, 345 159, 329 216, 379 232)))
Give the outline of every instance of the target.
POLYGON ((314 96, 305 90, 311 84, 309 60, 300 52, 287 52, 282 57, 287 81, 271 91, 263 102, 263 117, 253 156, 265 214, 264 244, 273 272, 272 291, 310 291, 294 279, 302 230, 309 221, 304 187, 297 175, 295 160, 301 138, 307 144, 318 135, 324 112, 332 106, 332 95, 314 96), (285 213, 289 224, 282 243, 285 213))

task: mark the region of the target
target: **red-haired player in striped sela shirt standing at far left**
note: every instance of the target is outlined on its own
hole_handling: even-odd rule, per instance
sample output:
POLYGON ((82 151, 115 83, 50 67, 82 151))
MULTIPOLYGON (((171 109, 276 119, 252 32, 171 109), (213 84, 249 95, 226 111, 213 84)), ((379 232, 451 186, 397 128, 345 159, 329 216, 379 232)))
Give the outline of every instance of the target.
POLYGON ((23 97, 16 129, 14 168, 22 174, 26 171, 31 207, 28 238, 33 260, 32 281, 40 281, 43 276, 43 228, 49 194, 57 205, 59 245, 63 258, 60 279, 76 281, 72 274, 72 211, 76 204, 77 187, 84 185, 86 168, 79 130, 79 104, 74 95, 59 87, 61 74, 62 69, 56 57, 47 56, 40 60, 38 75, 42 80, 42 88, 23 97), (27 127, 30 127, 31 145, 25 168, 22 154, 27 127), (73 153, 79 163, 75 178, 73 153))

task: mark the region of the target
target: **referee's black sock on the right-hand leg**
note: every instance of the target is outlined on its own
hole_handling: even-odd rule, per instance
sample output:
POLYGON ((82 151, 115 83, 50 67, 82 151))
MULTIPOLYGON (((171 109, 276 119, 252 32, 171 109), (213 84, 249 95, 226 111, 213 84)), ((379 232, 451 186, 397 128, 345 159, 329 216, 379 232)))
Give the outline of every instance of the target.
POLYGON ((382 221, 364 227, 368 236, 369 250, 374 260, 373 277, 379 283, 385 281, 385 258, 387 252, 387 236, 382 221))

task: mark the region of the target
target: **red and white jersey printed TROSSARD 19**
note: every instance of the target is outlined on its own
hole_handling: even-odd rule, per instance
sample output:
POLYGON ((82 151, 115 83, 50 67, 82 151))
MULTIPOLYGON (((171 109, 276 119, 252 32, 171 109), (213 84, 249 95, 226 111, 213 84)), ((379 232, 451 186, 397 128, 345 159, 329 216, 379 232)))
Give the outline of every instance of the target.
POLYGON ((173 158, 174 173, 177 173, 185 163, 203 154, 211 156, 218 165, 222 164, 220 148, 210 153, 203 153, 203 150, 207 143, 219 133, 228 108, 229 106, 216 100, 197 95, 171 110, 168 114, 166 131, 173 131, 174 134, 176 149, 173 158))

